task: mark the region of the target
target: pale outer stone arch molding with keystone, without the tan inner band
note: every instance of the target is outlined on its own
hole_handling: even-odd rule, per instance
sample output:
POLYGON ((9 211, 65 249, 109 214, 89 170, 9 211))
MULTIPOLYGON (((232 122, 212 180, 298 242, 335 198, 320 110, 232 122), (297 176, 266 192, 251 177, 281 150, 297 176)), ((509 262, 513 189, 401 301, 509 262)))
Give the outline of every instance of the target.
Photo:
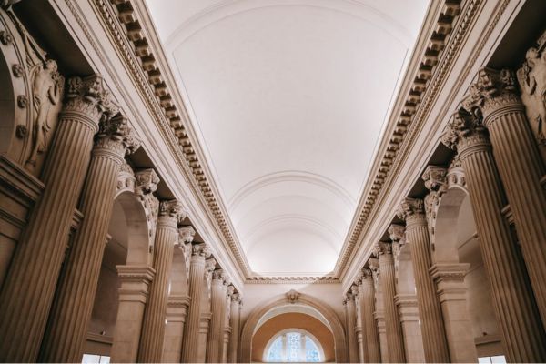
POLYGON ((271 314, 273 311, 278 312, 280 315, 291 312, 300 314, 305 312, 303 314, 313 317, 314 319, 321 318, 320 320, 317 320, 323 324, 327 324, 325 326, 329 329, 334 338, 335 359, 333 361, 347 361, 345 331, 336 313, 319 299, 304 293, 298 293, 296 300, 294 300, 294 298, 288 298, 287 295, 279 295, 269 299, 257 308, 254 308, 241 331, 239 362, 252 361, 253 339, 258 332, 258 329, 262 328, 269 320, 278 317, 278 315, 271 314))

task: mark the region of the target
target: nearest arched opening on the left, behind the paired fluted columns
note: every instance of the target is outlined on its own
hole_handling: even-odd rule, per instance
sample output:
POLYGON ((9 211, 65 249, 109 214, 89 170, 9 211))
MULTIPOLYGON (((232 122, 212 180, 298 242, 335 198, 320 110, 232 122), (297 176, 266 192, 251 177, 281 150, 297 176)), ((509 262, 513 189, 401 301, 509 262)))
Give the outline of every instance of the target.
POLYGON ((148 265, 147 215, 133 192, 125 191, 116 197, 108 234, 84 352, 110 357, 122 283, 118 267, 148 265))

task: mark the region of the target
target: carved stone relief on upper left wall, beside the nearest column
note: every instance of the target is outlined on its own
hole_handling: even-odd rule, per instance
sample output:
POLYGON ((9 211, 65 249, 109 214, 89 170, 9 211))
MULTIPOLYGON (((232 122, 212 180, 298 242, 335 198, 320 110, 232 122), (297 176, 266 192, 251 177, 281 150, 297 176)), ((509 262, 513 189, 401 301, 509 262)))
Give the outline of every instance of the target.
MULTIPOLYGON (((0 17, 0 50, 10 64, 12 80, 16 78, 12 82, 15 113, 5 114, 15 114, 14 120, 5 121, 13 123, 15 130, 8 155, 39 176, 62 107, 65 77, 58 72, 56 61, 28 34, 9 6, 0 12, 0 17)), ((7 111, 4 107, 2 113, 7 111)))

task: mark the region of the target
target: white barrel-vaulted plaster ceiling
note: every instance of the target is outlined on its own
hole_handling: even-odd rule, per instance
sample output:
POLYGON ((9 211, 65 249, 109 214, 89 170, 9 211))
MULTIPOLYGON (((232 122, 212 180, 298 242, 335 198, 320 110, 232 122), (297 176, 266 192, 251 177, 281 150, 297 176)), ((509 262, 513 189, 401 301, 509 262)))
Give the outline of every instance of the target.
POLYGON ((428 0, 147 0, 258 274, 325 274, 428 0))

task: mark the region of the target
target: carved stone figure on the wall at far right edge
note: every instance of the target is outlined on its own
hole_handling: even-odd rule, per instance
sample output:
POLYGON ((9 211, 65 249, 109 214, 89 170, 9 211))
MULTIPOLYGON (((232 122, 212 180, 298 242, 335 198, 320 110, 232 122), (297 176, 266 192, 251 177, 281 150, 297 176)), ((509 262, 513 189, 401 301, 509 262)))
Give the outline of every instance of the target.
POLYGON ((542 34, 537 44, 531 46, 525 55, 525 61, 518 69, 518 82, 521 87, 521 100, 527 110, 531 129, 541 146, 546 146, 546 33, 542 34))

